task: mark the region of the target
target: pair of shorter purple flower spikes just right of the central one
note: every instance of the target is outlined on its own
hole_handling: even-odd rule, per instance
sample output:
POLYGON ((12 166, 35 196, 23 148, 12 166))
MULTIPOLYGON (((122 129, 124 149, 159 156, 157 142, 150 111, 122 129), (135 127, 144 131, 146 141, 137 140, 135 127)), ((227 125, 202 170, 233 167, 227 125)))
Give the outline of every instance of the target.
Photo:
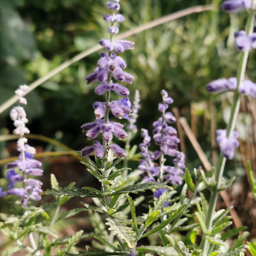
MULTIPOLYGON (((168 123, 176 122, 176 118, 171 112, 165 112, 169 104, 173 102, 171 97, 168 97, 168 93, 165 90, 161 91, 163 97, 163 103, 159 103, 158 110, 162 113, 162 116, 158 121, 153 123, 153 140, 155 144, 160 146, 160 151, 149 151, 151 137, 148 134, 148 130, 141 129, 141 136, 144 138, 143 143, 139 145, 141 149, 140 165, 139 170, 143 171, 141 177, 144 182, 166 182, 174 185, 180 185, 182 183, 182 175, 185 168, 185 155, 183 152, 178 151, 178 143, 180 142, 177 138, 177 131, 174 127, 169 126, 168 123), (164 155, 170 157, 176 157, 173 160, 174 166, 164 165, 164 155), (154 160, 160 158, 159 166, 155 166, 154 160), (157 178, 157 180, 155 179, 157 178)), ((153 192, 153 196, 160 198, 162 193, 168 189, 158 189, 153 192)), ((164 207, 168 206, 168 201, 164 202, 164 207)))

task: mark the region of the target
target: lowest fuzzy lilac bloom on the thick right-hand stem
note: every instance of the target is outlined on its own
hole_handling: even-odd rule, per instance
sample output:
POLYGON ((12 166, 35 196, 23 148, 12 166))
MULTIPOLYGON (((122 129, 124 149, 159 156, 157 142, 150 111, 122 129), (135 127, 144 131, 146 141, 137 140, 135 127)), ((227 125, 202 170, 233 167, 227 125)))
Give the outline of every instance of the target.
POLYGON ((229 159, 233 159, 235 155, 235 150, 239 146, 238 132, 234 131, 229 138, 227 138, 227 130, 217 130, 216 131, 216 141, 219 143, 220 151, 229 159))

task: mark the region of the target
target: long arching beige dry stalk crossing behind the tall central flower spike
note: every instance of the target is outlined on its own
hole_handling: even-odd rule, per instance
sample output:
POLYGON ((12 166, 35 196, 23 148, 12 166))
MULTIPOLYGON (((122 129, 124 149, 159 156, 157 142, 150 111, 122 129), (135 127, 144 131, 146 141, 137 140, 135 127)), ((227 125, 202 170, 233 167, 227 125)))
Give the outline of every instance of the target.
MULTIPOLYGON (((174 13, 171 13, 167 16, 164 16, 162 18, 159 19, 155 19, 151 22, 148 22, 146 24, 143 24, 141 26, 138 26, 136 28, 130 29, 122 34, 120 34, 119 36, 116 36, 116 39, 123 39, 126 37, 129 37, 131 35, 135 35, 138 34, 139 32, 142 32, 144 30, 156 27, 158 25, 161 25, 163 23, 169 22, 171 20, 175 20, 187 15, 190 15, 192 13, 197 13, 197 12, 203 12, 203 11, 210 11, 210 10, 215 10, 214 7, 212 7, 210 4, 208 5, 200 5, 200 6, 195 6, 195 7, 190 7, 187 8, 185 10, 182 11, 177 11, 174 13)), ((53 77, 54 75, 58 74, 59 72, 61 72, 63 69, 69 67, 70 65, 72 65, 73 63, 77 62, 78 60, 94 53, 97 50, 100 50, 102 47, 100 45, 95 45, 92 48, 89 48, 86 51, 83 51, 82 53, 79 53, 78 55, 76 55, 75 57, 73 57, 70 60, 65 61, 63 64, 61 64, 60 66, 58 66, 57 68, 51 70, 48 74, 46 74, 45 76, 40 77, 39 79, 37 79, 34 83, 29 85, 29 92, 31 92, 32 90, 34 90, 37 86, 39 86, 40 84, 44 83, 45 81, 47 81, 49 78, 53 77)), ((15 103, 17 100, 17 96, 12 96, 11 98, 9 98, 6 102, 4 102, 1 106, 0 106, 0 114, 6 110, 8 107, 10 107, 13 103, 15 103)))

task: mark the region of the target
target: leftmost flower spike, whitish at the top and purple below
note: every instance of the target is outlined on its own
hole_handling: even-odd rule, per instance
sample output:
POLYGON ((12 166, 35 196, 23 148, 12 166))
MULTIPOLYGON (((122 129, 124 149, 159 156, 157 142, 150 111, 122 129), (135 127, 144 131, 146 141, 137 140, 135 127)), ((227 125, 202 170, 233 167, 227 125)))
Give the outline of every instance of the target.
POLYGON ((20 85, 19 89, 15 91, 15 94, 19 96, 17 98, 18 106, 12 108, 10 117, 16 127, 13 133, 20 135, 17 142, 17 150, 20 154, 18 160, 7 164, 7 168, 10 169, 7 172, 7 178, 9 179, 8 190, 2 191, 3 188, 0 187, 0 197, 7 195, 21 197, 21 203, 25 207, 29 199, 41 200, 39 193, 42 192, 42 182, 32 178, 28 179, 27 176, 41 176, 43 173, 43 170, 39 169, 42 165, 41 162, 33 159, 36 149, 26 144, 28 140, 23 137, 24 134, 29 133, 29 130, 26 127, 28 122, 26 112, 20 104, 27 104, 27 100, 23 96, 28 90, 29 87, 27 85, 20 85), (18 168, 21 172, 15 172, 15 168, 18 168), (23 188, 15 188, 16 182, 22 182, 23 188))

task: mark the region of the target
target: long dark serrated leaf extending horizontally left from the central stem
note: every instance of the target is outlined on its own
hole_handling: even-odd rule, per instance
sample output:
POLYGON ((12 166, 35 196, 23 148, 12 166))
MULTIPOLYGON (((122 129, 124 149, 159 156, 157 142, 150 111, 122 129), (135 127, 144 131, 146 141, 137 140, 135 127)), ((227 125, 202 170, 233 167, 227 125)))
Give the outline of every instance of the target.
POLYGON ((100 197, 103 198, 102 195, 98 195, 96 193, 92 193, 92 192, 87 192, 87 191, 83 191, 81 189, 78 188, 72 188, 72 189, 68 189, 68 188, 59 188, 59 189, 47 189, 47 191, 44 191, 42 193, 40 193, 40 195, 52 195, 52 196, 67 196, 67 197, 100 197))

